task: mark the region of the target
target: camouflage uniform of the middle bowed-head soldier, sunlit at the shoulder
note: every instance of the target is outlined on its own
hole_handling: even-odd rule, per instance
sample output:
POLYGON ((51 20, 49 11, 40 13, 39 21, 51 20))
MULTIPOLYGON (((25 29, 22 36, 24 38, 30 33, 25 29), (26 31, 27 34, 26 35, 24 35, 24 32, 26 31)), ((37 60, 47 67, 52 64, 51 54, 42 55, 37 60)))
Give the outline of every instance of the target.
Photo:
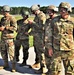
POLYGON ((40 52, 41 53, 44 53, 44 50, 43 49, 40 49, 39 50, 38 48, 43 48, 43 46, 44 46, 44 41, 43 41, 44 40, 44 30, 43 30, 44 29, 44 25, 43 25, 44 23, 43 22, 41 23, 41 21, 44 21, 45 22, 45 20, 46 20, 46 17, 45 17, 45 14, 42 11, 34 19, 34 22, 37 25, 39 25, 38 28, 36 27, 35 30, 34 30, 34 33, 35 33, 34 34, 34 47, 36 48, 35 49, 35 52, 36 52, 36 61, 37 61, 37 63, 39 63, 39 55, 38 54, 40 52), (38 46, 40 46, 40 47, 38 47, 38 46))

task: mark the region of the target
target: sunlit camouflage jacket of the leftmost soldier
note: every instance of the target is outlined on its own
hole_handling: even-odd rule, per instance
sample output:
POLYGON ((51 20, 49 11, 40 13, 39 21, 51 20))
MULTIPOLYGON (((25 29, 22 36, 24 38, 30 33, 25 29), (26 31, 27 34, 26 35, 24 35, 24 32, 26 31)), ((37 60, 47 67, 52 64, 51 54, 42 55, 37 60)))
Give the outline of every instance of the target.
POLYGON ((13 16, 2 17, 1 18, 1 26, 5 26, 4 31, 2 31, 2 38, 13 38, 14 31, 17 30, 17 22, 13 16), (10 27, 6 29, 6 27, 10 27))

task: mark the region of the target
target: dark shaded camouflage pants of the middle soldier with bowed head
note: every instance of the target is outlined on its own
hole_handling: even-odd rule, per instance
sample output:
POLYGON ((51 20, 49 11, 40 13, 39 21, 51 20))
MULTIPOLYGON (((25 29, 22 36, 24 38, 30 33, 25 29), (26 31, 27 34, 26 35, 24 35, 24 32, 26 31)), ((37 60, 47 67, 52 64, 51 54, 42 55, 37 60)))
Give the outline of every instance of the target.
POLYGON ((35 61, 37 63, 40 63, 41 66, 44 66, 44 64, 42 63, 42 60, 44 59, 44 43, 43 43, 43 39, 42 36, 39 34, 35 34, 34 36, 34 47, 35 47, 35 53, 36 53, 36 59, 35 61))

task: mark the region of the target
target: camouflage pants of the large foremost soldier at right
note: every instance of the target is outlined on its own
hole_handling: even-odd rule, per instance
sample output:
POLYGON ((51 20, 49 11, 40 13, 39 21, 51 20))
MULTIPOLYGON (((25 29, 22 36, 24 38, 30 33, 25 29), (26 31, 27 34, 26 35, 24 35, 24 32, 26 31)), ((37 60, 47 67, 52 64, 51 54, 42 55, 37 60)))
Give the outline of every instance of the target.
POLYGON ((52 57, 46 56, 46 63, 49 75, 67 75, 73 73, 74 56, 73 52, 55 51, 52 57))

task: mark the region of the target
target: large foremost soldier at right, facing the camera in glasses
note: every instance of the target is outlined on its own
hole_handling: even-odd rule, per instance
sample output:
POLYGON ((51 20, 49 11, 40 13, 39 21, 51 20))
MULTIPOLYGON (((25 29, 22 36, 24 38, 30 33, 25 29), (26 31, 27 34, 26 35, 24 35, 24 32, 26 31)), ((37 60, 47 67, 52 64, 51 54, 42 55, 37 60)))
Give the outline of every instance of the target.
MULTIPOLYGON (((70 16, 71 5, 61 2, 60 15, 51 21, 51 37, 48 42, 48 54, 52 56, 49 75, 72 75, 74 68, 74 18, 70 16), (64 67, 64 69, 63 69, 64 67), (63 72, 61 73, 63 69, 63 72)), ((50 36, 50 34, 49 34, 50 36)))

